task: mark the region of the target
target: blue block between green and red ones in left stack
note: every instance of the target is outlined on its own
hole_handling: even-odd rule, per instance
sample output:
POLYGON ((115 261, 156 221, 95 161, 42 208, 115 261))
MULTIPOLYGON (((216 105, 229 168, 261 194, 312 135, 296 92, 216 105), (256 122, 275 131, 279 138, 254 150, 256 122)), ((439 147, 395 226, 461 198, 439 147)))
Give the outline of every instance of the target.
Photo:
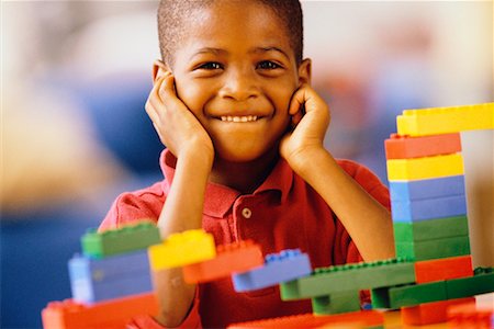
POLYGON ((153 291, 147 251, 103 259, 74 257, 69 263, 72 298, 92 304, 153 291))

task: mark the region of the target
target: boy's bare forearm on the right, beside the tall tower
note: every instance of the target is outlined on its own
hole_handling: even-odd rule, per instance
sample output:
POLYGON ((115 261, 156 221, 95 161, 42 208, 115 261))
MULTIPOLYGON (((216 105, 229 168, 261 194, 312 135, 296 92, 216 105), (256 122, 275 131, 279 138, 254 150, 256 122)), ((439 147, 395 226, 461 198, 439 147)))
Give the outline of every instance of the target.
POLYGON ((369 195, 333 156, 321 148, 295 170, 332 207, 366 261, 394 257, 390 212, 369 195))

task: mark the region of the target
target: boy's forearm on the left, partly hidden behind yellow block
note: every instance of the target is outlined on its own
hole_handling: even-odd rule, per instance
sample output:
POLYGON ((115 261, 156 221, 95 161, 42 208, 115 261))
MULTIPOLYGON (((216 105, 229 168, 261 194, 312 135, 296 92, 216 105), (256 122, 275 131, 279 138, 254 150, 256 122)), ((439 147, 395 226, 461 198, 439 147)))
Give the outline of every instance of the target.
MULTIPOLYGON (((177 160, 167 201, 158 219, 161 237, 202 227, 204 192, 213 159, 190 152, 177 160)), ((194 298, 195 285, 183 282, 181 269, 154 273, 155 292, 160 305, 157 320, 177 327, 186 318, 194 298)))

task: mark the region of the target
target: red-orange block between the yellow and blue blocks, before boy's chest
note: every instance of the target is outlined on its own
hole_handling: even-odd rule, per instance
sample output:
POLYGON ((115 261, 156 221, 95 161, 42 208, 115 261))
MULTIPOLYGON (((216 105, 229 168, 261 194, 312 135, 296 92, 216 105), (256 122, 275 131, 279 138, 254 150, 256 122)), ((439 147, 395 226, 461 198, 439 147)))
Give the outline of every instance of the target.
POLYGON ((187 283, 209 282, 235 272, 246 272, 265 263, 259 245, 251 240, 222 245, 216 248, 216 258, 183 266, 187 283))

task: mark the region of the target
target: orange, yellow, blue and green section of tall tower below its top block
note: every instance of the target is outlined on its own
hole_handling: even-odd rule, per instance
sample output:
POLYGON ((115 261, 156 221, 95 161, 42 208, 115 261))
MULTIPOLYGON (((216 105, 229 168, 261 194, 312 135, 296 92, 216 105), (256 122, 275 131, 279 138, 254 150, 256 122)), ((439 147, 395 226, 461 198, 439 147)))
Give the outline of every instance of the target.
POLYGON ((392 135, 385 150, 396 256, 470 254, 460 134, 392 135))

